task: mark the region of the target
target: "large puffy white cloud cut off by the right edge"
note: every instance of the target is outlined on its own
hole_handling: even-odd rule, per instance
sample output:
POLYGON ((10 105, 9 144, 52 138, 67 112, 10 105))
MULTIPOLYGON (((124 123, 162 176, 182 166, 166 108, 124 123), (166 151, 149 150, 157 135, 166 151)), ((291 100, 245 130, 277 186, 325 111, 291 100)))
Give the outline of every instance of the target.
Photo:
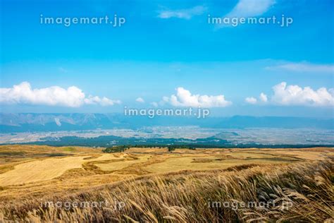
POLYGON ((271 100, 282 105, 306 105, 306 106, 333 106, 334 90, 319 88, 313 90, 310 87, 301 88, 298 85, 287 85, 282 82, 273 86, 271 100))

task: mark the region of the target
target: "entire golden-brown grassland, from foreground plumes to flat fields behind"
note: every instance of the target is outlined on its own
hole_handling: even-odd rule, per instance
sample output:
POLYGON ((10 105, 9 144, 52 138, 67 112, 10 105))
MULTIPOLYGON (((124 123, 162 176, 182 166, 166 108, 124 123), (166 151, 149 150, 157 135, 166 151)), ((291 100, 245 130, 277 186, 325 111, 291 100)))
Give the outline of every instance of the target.
POLYGON ((333 156, 1 145, 0 222, 334 222, 333 156))

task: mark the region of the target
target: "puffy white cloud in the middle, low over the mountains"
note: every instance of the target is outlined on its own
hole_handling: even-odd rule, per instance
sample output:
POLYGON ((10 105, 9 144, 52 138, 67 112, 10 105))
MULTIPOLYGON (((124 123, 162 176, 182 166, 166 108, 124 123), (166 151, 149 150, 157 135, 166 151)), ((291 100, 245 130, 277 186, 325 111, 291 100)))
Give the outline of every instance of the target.
POLYGON ((163 97, 163 102, 169 102, 175 107, 226 107, 232 102, 225 100, 224 95, 192 95, 185 88, 177 88, 176 95, 163 97))

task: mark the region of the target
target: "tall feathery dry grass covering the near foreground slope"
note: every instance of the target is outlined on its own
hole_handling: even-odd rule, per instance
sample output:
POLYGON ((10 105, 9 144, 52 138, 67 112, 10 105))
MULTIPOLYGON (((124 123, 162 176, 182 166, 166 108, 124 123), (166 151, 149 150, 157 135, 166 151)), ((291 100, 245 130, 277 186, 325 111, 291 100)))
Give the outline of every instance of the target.
POLYGON ((333 222, 333 164, 326 159, 144 176, 80 193, 3 204, 0 221, 333 222), (70 205, 66 209, 46 202, 70 205), (78 207, 82 202, 102 205, 78 207), (219 202, 234 205, 212 205, 219 202), (259 202, 275 205, 242 206, 259 202))

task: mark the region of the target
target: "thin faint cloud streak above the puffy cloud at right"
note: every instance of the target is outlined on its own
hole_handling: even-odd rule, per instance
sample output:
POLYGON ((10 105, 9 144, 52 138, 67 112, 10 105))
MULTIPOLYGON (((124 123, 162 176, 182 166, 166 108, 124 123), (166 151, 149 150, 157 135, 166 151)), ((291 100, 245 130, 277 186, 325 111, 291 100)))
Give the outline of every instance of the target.
POLYGON ((267 66, 266 69, 295 72, 334 73, 334 65, 332 64, 311 64, 307 62, 288 62, 277 66, 267 66))

